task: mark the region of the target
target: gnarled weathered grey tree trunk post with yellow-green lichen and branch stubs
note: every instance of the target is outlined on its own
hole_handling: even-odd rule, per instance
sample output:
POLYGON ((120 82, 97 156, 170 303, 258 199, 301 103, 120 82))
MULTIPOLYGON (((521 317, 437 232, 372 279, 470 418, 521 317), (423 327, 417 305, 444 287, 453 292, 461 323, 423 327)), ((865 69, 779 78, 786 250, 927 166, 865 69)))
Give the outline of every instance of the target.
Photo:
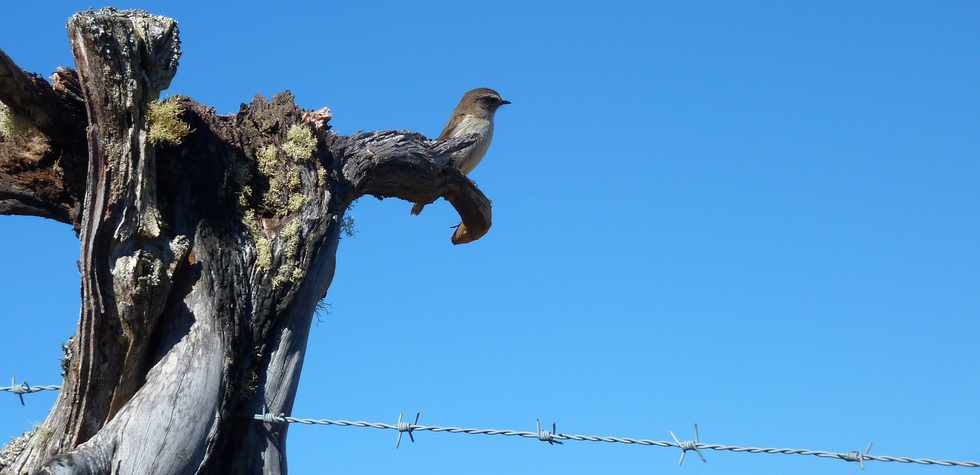
POLYGON ((452 242, 479 239, 490 202, 450 159, 473 139, 338 136, 288 92, 234 116, 160 103, 175 21, 103 9, 68 33, 78 73, 50 84, 0 51, 0 214, 75 226, 83 297, 58 401, 0 469, 285 473, 287 427, 251 416, 292 409, 344 213, 444 197, 452 242))

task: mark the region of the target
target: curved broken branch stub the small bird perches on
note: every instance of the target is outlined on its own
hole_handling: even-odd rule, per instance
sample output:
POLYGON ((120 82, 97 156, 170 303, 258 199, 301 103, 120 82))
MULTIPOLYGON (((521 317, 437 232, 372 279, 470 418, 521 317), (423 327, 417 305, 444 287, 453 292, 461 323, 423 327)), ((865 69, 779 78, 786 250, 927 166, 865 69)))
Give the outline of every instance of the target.
POLYGON ((339 139, 331 150, 344 157, 343 174, 353 199, 372 195, 431 203, 446 198, 463 220, 452 242, 465 244, 483 237, 491 224, 490 200, 450 159, 473 141, 474 137, 431 141, 405 131, 366 132, 339 139))

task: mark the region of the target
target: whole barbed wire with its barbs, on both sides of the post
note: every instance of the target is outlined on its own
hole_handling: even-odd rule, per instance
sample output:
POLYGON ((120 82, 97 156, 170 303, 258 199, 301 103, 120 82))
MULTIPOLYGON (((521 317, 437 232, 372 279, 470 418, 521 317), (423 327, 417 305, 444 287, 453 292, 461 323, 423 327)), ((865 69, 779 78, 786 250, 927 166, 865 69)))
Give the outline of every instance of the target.
MULTIPOLYGON (((31 386, 26 381, 17 383, 16 379, 11 379, 10 386, 0 386, 0 392, 9 392, 16 394, 20 398, 21 405, 24 404, 24 395, 33 394, 42 391, 59 391, 61 386, 57 385, 45 385, 45 386, 31 386)), ((794 449, 794 448, 770 448, 770 447, 751 447, 751 446, 740 446, 740 445, 726 445, 726 444, 709 444, 701 441, 700 429, 697 424, 694 425, 694 439, 693 440, 680 440, 674 435, 673 432, 668 431, 671 439, 673 440, 656 440, 656 439, 637 439, 633 437, 621 437, 621 436, 608 436, 608 435, 583 435, 583 434, 567 434, 564 432, 558 432, 557 424, 552 423, 551 431, 542 430, 541 421, 537 421, 537 430, 534 432, 530 431, 517 431, 510 429, 478 429, 471 427, 455 427, 455 426, 432 426, 419 424, 419 418, 422 416, 421 412, 415 414, 415 422, 409 423, 402 419, 402 415, 399 414, 398 421, 394 424, 388 424, 384 422, 368 422, 368 421, 352 421, 345 419, 307 419, 301 417, 292 417, 284 414, 255 414, 252 419, 258 422, 263 422, 266 424, 305 424, 305 425, 320 425, 320 426, 339 426, 339 427, 354 427, 354 428, 365 428, 365 429, 381 429, 381 430, 394 430, 398 431, 398 438, 395 440, 395 447, 401 445, 402 435, 408 434, 409 439, 415 442, 415 432, 436 432, 436 433, 449 433, 449 434, 464 434, 464 435, 484 435, 484 436, 502 436, 502 437, 521 437, 527 439, 537 439, 541 442, 546 442, 548 444, 562 444, 565 441, 576 441, 576 442, 600 442, 609 444, 625 444, 625 445, 644 445, 651 447, 663 447, 663 448, 675 448, 681 451, 679 464, 684 463, 684 458, 688 452, 695 452, 695 454, 701 459, 702 462, 707 463, 702 450, 715 450, 720 452, 734 452, 734 453, 750 453, 750 454, 776 454, 776 455, 800 455, 800 456, 813 456, 828 458, 834 460, 843 460, 845 462, 856 462, 862 469, 864 468, 864 462, 896 462, 896 463, 911 463, 919 465, 935 465, 943 467, 963 467, 963 468, 980 468, 980 462, 973 461, 957 461, 957 460, 942 460, 942 459, 932 459, 932 458, 914 458, 914 457, 899 457, 891 455, 874 455, 871 453, 871 444, 862 451, 853 450, 850 452, 831 452, 826 450, 811 450, 811 449, 794 449)))

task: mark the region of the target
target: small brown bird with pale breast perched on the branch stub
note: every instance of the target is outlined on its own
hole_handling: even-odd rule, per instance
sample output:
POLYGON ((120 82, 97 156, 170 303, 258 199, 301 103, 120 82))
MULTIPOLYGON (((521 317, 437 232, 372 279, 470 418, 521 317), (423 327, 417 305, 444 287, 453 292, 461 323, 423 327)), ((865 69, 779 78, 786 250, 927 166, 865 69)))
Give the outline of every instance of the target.
MULTIPOLYGON (((497 108, 505 104, 510 104, 510 101, 505 101, 493 89, 480 87, 467 92, 459 100, 449 123, 436 139, 445 140, 471 134, 479 136, 472 145, 452 154, 453 163, 464 175, 473 171, 487 154, 490 142, 493 141, 493 115, 497 108)), ((415 203, 412 214, 421 213, 424 207, 422 203, 415 203)))

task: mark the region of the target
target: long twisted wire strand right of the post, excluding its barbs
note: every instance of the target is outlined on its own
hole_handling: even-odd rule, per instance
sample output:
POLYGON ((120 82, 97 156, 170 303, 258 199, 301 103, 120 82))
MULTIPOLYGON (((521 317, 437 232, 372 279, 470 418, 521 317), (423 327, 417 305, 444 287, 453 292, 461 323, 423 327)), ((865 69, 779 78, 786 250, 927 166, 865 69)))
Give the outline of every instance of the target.
MULTIPOLYGON (((476 429, 476 428, 468 428, 468 427, 429 426, 429 425, 415 425, 415 424, 408 424, 405 425, 405 428, 400 429, 397 424, 386 424, 383 422, 349 421, 344 419, 306 419, 306 418, 282 416, 282 415, 277 416, 273 414, 256 414, 253 417, 253 419, 265 423, 270 423, 270 424, 285 423, 285 424, 306 424, 306 425, 323 425, 323 426, 340 426, 340 427, 359 427, 359 428, 370 428, 370 429, 395 430, 400 432, 407 432, 407 431, 446 432, 450 434, 524 437, 529 439, 544 440, 542 439, 542 434, 538 432, 515 431, 515 430, 507 430, 507 429, 476 429)), ((545 433, 545 434, 549 434, 549 433, 545 433)), ((668 440, 635 439, 631 437, 618 437, 618 436, 606 436, 606 435, 565 434, 561 432, 550 434, 549 437, 553 440, 573 440, 578 442, 605 442, 610 444, 646 445, 646 446, 653 446, 653 447, 676 448, 681 450, 705 449, 705 450, 716 450, 721 452, 750 453, 750 454, 813 456, 813 457, 829 458, 835 460, 843 460, 845 462, 875 461, 875 462, 913 463, 913 464, 920 464, 920 465, 938 465, 943 467, 980 468, 980 462, 973 462, 973 461, 897 457, 891 455, 872 455, 872 454, 860 453, 860 452, 829 452, 825 450, 793 449, 793 448, 742 447, 738 445, 706 444, 703 442, 689 442, 689 441, 688 442, 682 441, 680 444, 678 444, 676 442, 672 442, 668 440), (686 447, 685 446, 686 444, 690 444, 690 446, 686 447)))

